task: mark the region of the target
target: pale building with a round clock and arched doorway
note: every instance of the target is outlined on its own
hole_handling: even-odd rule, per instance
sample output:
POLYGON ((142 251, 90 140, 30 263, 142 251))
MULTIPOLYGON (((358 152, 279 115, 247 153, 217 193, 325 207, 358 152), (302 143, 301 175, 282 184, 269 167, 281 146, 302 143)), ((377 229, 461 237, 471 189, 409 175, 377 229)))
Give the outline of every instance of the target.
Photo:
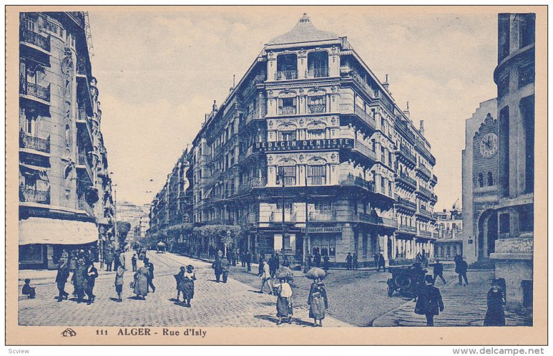
POLYGON ((481 102, 465 122, 462 151, 463 255, 468 263, 491 268, 497 239, 497 100, 481 102))

